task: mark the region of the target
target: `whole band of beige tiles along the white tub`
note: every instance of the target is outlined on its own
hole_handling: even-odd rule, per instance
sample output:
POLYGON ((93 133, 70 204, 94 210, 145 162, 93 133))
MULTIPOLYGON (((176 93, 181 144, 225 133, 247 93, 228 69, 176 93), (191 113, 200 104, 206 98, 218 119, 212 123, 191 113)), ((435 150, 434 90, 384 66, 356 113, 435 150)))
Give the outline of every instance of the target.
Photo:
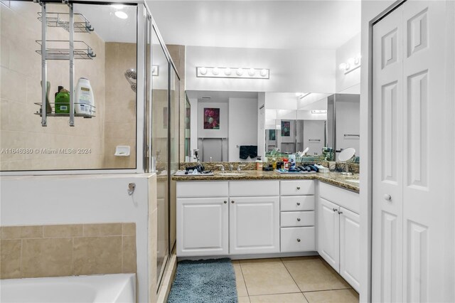
POLYGON ((136 272, 136 224, 1 226, 0 278, 136 272))

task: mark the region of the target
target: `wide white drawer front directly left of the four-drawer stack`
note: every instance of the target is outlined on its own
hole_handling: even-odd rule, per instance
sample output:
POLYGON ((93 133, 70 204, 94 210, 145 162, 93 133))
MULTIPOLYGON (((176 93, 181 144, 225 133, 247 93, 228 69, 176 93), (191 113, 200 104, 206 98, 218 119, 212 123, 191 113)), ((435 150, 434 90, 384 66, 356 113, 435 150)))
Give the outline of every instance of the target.
POLYGON ((229 196, 279 196, 279 181, 230 181, 229 196))

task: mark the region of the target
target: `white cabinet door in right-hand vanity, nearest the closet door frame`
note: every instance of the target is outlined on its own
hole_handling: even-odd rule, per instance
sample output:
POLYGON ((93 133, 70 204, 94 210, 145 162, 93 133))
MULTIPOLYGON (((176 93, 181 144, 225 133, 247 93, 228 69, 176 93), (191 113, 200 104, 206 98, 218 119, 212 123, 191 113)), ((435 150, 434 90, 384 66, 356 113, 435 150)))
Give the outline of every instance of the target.
POLYGON ((340 209, 340 275, 360 291, 360 216, 340 209))

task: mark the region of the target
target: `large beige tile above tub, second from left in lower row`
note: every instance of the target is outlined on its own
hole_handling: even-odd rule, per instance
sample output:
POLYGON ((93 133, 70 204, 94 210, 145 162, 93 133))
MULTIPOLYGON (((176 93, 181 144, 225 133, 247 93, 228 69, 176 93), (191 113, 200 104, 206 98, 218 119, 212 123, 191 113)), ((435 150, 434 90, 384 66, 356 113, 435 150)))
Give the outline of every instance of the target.
POLYGON ((73 275, 71 238, 24 239, 22 277, 73 275))

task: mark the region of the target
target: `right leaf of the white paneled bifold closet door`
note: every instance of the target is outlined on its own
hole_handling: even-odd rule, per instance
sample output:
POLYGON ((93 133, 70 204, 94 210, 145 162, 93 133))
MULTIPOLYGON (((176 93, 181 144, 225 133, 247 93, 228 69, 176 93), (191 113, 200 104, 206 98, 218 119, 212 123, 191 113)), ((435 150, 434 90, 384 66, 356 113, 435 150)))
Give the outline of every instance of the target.
POLYGON ((444 180, 450 173, 432 157, 445 154, 444 134, 454 132, 442 114, 454 102, 446 100, 446 2, 403 6, 403 301, 444 302, 444 252, 452 235, 444 224, 453 218, 444 211, 444 180))

